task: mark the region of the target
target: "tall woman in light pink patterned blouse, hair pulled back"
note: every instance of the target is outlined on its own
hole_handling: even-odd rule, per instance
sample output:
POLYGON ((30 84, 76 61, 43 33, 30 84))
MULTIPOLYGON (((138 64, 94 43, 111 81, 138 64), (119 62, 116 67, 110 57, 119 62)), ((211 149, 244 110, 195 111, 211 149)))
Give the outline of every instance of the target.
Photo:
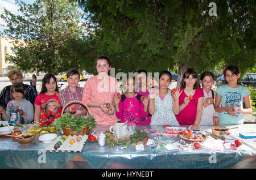
POLYGON ((97 125, 114 125, 117 117, 114 113, 114 95, 118 93, 117 79, 108 75, 111 63, 108 57, 101 56, 96 59, 98 75, 89 78, 84 85, 82 102, 84 102, 90 114, 95 118, 97 125), (110 108, 106 108, 106 104, 110 108))

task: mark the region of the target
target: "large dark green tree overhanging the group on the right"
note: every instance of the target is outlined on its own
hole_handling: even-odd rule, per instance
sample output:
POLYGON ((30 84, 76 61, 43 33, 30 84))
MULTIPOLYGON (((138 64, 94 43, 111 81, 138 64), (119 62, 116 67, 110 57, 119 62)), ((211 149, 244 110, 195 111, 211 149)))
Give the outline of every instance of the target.
POLYGON ((217 16, 203 0, 77 2, 94 25, 95 56, 108 55, 124 72, 255 65, 254 1, 214 1, 217 16))

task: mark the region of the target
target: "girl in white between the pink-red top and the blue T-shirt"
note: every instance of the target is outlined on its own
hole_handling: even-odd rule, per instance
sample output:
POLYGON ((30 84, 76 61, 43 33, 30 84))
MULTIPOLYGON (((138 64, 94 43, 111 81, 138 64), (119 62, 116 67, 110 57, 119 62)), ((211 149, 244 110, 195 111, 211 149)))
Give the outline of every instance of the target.
POLYGON ((212 72, 206 71, 201 74, 200 83, 202 84, 204 91, 204 103, 200 125, 203 126, 218 126, 218 122, 220 122, 218 113, 214 110, 214 97, 216 94, 211 89, 214 82, 214 75, 212 72))

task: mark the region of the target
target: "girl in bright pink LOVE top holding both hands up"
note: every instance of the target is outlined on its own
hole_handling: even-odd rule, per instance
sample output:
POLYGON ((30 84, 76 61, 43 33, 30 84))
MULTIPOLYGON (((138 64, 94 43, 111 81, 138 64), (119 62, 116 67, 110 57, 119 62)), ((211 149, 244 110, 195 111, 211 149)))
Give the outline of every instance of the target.
POLYGON ((127 92, 121 96, 121 99, 115 95, 115 114, 121 122, 134 123, 139 125, 141 117, 146 118, 148 115, 147 105, 148 98, 135 93, 135 77, 127 77, 126 79, 127 92), (144 99, 142 99, 144 97, 144 99))

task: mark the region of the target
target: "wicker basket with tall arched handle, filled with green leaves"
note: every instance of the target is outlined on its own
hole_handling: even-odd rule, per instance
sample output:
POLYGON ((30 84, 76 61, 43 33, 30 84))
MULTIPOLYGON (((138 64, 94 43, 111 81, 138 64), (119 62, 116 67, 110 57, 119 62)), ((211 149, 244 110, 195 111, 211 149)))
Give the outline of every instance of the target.
MULTIPOLYGON (((82 106, 84 106, 84 107, 86 108, 87 114, 90 114, 89 108, 88 108, 88 106, 87 106, 86 104, 84 104, 84 102, 79 101, 79 100, 73 100, 73 101, 69 101, 67 104, 65 104, 65 106, 64 106, 63 109, 62 109, 61 115, 63 115, 64 110, 65 110, 69 105, 71 105, 71 104, 81 104, 82 106)), ((82 127, 82 128, 81 128, 81 131, 80 131, 79 133, 77 133, 76 131, 73 131, 73 130, 72 130, 71 128, 69 128, 69 127, 61 127, 61 128, 62 128, 62 130, 63 130, 63 134, 66 135, 66 136, 69 136, 69 135, 71 135, 71 136, 74 136, 74 135, 78 136, 78 135, 85 135, 85 134, 86 134, 86 135, 89 135, 89 132, 90 132, 90 130, 89 130, 88 127, 82 127)))

